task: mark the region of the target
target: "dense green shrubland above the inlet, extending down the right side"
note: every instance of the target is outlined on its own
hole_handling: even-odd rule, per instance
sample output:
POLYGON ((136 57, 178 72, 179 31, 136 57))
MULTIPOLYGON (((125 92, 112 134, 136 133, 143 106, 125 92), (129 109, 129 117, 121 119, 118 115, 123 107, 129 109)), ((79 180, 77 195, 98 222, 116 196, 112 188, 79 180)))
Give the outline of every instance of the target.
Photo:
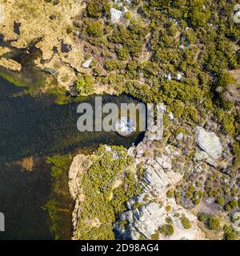
MULTIPOLYGON (((94 57, 90 75, 98 86, 108 85, 143 102, 164 102, 183 134, 207 121, 217 124, 218 135, 230 142, 229 170, 219 168, 206 179, 185 174, 186 182, 167 196, 187 207, 214 198, 218 210, 228 214, 239 206, 239 106, 226 96, 232 85, 234 90, 239 86, 229 72, 240 67, 240 30, 232 18, 237 3, 134 0, 121 22, 112 24, 110 7, 120 6, 86 1, 81 21, 74 23, 87 54, 94 57)), ((167 119, 166 137, 178 134, 167 119)))

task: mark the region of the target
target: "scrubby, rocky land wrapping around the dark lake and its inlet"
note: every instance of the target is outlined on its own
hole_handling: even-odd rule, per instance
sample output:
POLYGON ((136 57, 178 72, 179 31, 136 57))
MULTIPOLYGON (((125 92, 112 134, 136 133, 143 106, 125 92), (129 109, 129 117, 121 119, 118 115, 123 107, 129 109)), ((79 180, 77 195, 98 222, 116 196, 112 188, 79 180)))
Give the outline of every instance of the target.
MULTIPOLYGON (((146 2, 86 4, 78 0, 1 2, 0 34, 15 50, 28 52, 34 45, 41 52, 32 64, 56 79, 57 85, 47 88, 55 94, 65 97, 62 94, 68 92, 78 97, 125 92, 143 102, 165 102, 166 131, 162 140, 154 141, 154 129, 149 130, 138 146, 120 156, 122 149, 104 146, 100 155, 74 158, 69 171, 70 194, 75 201, 73 239, 82 238, 82 230, 97 234, 101 229, 99 238, 226 236, 226 226, 234 223, 239 210, 240 55, 238 40, 234 42, 238 30, 222 18, 221 10, 218 15, 215 3, 208 6, 217 11, 213 14, 218 19, 212 22, 226 20, 221 26, 225 32, 220 34, 233 31, 231 37, 218 38, 217 26, 207 22, 207 17, 202 25, 198 18, 199 24, 191 17, 182 18, 185 10, 178 6, 172 15, 179 9, 180 21, 169 18, 161 6, 146 2), (206 33, 202 34, 203 27, 206 33), (215 61, 219 53, 222 65, 215 61), (106 158, 106 163, 101 158, 106 158), (115 162, 119 170, 115 170, 115 162), (98 184, 101 191, 99 187, 94 191, 101 202, 99 209, 106 210, 108 226, 98 218, 101 210, 92 210, 94 201, 88 202, 86 209, 82 206, 91 195, 85 197, 84 193, 91 191, 83 191, 84 182, 92 184, 98 178, 91 166, 116 172, 107 177, 103 172, 107 182, 98 184), (90 170, 94 178, 88 176, 90 170), (133 187, 141 193, 134 195, 133 187), (129 188, 130 196, 124 198, 129 188), (94 218, 82 219, 88 211, 94 218), (213 220, 218 225, 211 226, 213 220)), ((197 10, 193 13, 198 16, 197 10)), ((16 73, 23 68, 5 46, 0 47, 0 66, 16 73)))

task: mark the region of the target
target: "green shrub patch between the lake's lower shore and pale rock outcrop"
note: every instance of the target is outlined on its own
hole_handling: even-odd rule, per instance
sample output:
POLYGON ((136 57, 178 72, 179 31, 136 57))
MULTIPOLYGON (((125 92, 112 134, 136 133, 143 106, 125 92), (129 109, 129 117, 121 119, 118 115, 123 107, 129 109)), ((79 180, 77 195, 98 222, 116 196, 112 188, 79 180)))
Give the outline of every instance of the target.
POLYGON ((78 238, 114 239, 118 214, 126 210, 125 203, 141 193, 141 189, 132 170, 127 169, 132 159, 126 156, 125 148, 112 146, 111 151, 106 152, 105 146, 99 146, 95 155, 81 177, 84 201, 78 238))

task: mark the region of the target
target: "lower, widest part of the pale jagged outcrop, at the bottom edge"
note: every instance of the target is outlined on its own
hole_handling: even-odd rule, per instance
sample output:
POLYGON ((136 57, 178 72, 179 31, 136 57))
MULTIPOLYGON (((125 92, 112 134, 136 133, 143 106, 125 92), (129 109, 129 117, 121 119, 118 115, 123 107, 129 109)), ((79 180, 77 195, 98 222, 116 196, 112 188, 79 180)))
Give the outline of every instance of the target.
MULTIPOLYGON (((116 237, 127 240, 150 239, 153 234, 158 232, 160 226, 166 225, 166 218, 170 218, 174 226, 174 234, 170 239, 197 240, 204 238, 197 226, 197 218, 194 214, 182 206, 178 206, 174 199, 166 200, 166 202, 168 206, 172 207, 170 212, 166 211, 166 203, 160 206, 157 202, 150 202, 138 207, 138 209, 127 210, 120 214, 118 222, 115 224, 116 237), (182 216, 191 222, 190 229, 186 230, 182 226, 182 216), (122 229, 121 222, 128 223, 126 228, 122 229)), ((161 239, 166 239, 166 237, 161 236, 161 239)))

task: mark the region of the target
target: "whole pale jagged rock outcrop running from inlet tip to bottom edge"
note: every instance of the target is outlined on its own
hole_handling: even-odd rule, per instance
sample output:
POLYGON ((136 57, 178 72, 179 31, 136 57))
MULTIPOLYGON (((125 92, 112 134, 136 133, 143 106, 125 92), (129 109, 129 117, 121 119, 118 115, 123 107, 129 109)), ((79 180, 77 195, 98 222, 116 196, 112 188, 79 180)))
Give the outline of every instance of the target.
MULTIPOLYGON (((182 139, 183 135, 179 137, 182 139)), ((171 218, 174 226, 172 239, 202 239, 203 234, 197 226, 197 218, 182 206, 178 206, 174 198, 166 197, 167 190, 182 179, 179 171, 183 170, 184 164, 174 168, 174 161, 182 157, 182 152, 174 146, 165 146, 161 156, 145 157, 146 150, 153 148, 152 143, 146 137, 137 147, 129 150, 129 154, 134 156, 136 162, 143 164, 143 193, 131 198, 126 203, 128 210, 119 214, 118 222, 115 223, 116 237, 149 239, 153 234, 158 233, 160 226, 166 224, 166 218, 171 218), (170 206, 171 210, 167 211, 166 206, 170 206), (189 230, 182 226, 180 220, 182 216, 187 217, 192 223, 189 230)), ((162 236, 161 239, 166 238, 162 236)))

